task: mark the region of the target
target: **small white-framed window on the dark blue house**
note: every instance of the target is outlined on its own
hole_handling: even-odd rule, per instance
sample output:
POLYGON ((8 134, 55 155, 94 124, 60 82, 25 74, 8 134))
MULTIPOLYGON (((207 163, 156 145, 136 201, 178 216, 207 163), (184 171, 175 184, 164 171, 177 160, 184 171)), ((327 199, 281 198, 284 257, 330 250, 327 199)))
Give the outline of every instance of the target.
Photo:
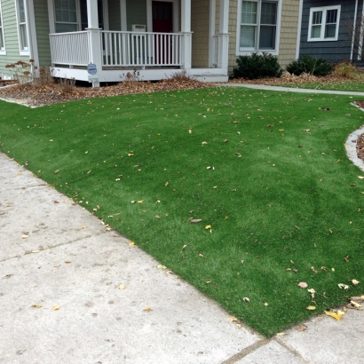
POLYGON ((339 31, 340 5, 310 9, 308 41, 336 41, 339 31))

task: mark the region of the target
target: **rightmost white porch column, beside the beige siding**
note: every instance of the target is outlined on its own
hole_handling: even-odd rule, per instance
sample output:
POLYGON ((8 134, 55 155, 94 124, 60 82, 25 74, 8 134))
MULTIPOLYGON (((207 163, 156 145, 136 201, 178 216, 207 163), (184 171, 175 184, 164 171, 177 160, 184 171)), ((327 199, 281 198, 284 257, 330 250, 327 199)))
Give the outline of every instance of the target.
POLYGON ((218 33, 218 68, 227 67, 229 62, 229 0, 220 0, 218 33))

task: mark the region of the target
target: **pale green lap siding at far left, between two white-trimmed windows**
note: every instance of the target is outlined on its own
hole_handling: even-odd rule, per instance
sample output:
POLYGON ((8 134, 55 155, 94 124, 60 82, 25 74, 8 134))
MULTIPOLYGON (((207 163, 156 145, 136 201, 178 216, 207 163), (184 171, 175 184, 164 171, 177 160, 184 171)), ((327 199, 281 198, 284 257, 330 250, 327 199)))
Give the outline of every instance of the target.
POLYGON ((28 62, 29 56, 20 56, 18 29, 14 0, 0 0, 3 12, 3 27, 6 55, 0 55, 0 75, 12 75, 10 68, 5 65, 15 63, 18 60, 28 62))

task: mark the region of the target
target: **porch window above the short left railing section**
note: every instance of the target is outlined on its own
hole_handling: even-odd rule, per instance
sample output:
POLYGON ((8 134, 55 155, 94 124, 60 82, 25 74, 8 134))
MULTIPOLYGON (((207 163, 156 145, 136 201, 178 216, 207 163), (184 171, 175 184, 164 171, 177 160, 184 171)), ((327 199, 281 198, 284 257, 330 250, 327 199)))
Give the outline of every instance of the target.
POLYGON ((56 33, 78 30, 76 0, 54 0, 56 33))

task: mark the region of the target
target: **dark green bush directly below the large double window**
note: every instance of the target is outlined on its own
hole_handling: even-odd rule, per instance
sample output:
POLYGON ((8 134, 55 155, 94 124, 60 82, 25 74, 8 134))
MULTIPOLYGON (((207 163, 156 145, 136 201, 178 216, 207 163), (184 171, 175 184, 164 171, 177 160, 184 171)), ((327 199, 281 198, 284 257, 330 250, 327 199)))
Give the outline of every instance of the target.
POLYGON ((253 53, 251 56, 240 56, 236 59, 237 67, 233 67, 233 77, 248 78, 253 80, 265 77, 281 77, 281 69, 278 59, 272 54, 263 52, 253 53))

